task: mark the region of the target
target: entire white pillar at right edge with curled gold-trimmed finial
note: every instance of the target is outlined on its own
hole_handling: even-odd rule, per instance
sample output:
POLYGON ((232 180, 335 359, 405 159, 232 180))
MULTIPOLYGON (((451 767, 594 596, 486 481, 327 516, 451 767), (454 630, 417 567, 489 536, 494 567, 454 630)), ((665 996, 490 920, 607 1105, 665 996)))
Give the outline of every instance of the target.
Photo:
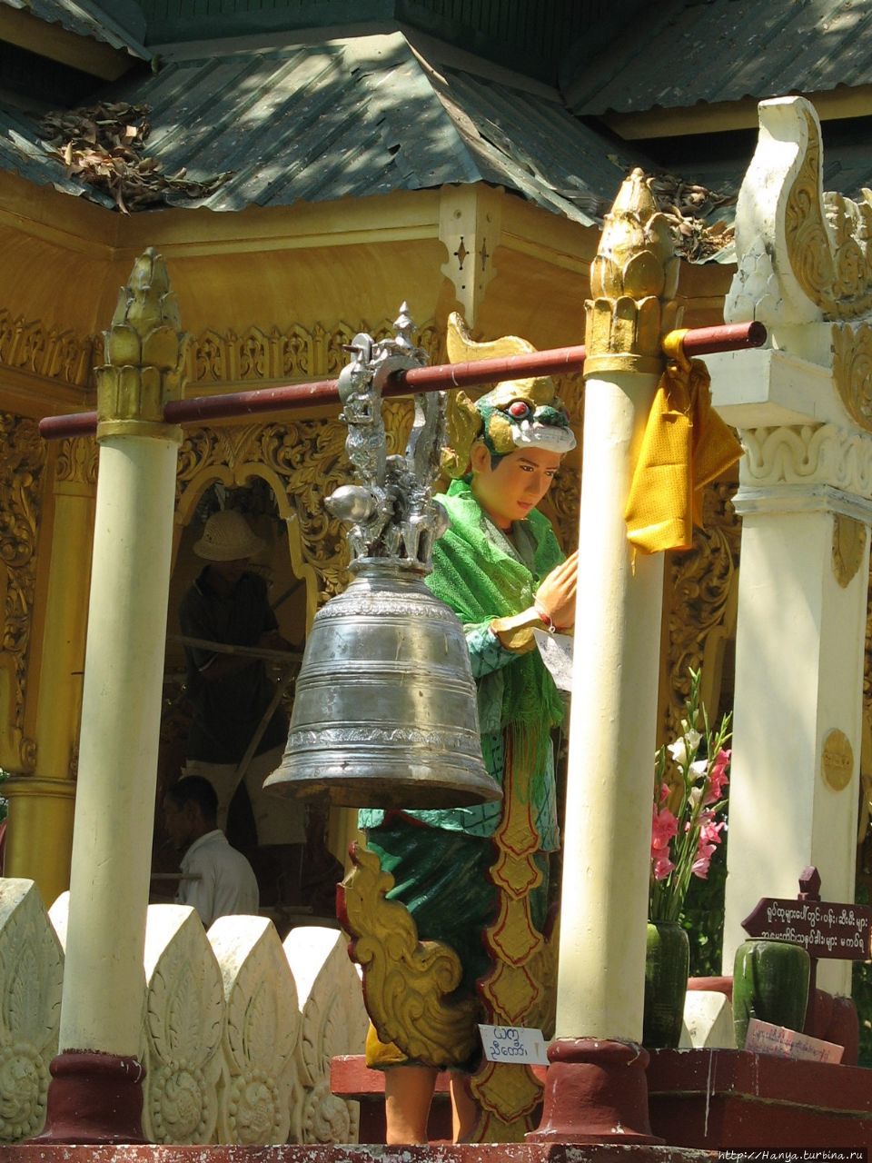
MULTIPOLYGON (((770 347, 708 361, 713 400, 739 429, 742 515, 723 971, 760 897, 852 901, 872 520, 870 244, 862 208, 821 186, 817 115, 759 106, 736 211, 729 322, 770 347)), ((850 993, 851 965, 819 984, 850 993)))

